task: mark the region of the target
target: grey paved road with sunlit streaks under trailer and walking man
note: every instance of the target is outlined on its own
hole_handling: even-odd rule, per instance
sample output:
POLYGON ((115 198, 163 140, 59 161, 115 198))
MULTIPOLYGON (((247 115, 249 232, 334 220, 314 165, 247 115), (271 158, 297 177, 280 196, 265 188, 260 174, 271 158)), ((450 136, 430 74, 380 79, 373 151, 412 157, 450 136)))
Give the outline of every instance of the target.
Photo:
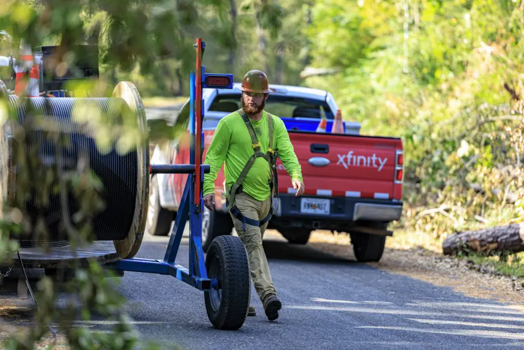
MULTIPOLYGON (((163 258, 167 241, 148 236, 138 256, 163 258)), ((267 321, 254 293, 256 317, 238 331, 215 330, 202 292, 172 277, 126 272, 120 290, 137 329, 166 348, 524 347, 524 313, 507 305, 292 246, 278 234, 264 246, 283 303, 276 322, 267 321)), ((177 262, 188 266, 187 239, 177 262)))

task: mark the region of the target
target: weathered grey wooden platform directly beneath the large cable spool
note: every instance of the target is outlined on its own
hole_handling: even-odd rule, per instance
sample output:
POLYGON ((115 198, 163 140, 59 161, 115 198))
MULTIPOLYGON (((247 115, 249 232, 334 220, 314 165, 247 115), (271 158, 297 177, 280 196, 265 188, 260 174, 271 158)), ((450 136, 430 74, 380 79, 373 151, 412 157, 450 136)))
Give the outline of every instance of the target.
MULTIPOLYGON (((42 248, 20 248, 20 257, 27 268, 68 268, 74 267, 75 261, 86 266, 90 260, 110 263, 119 260, 113 241, 95 241, 92 244, 78 248, 76 251, 69 245, 54 247, 45 251, 42 248)), ((18 255, 12 254, 12 259, 3 262, 1 266, 19 266, 18 255)))

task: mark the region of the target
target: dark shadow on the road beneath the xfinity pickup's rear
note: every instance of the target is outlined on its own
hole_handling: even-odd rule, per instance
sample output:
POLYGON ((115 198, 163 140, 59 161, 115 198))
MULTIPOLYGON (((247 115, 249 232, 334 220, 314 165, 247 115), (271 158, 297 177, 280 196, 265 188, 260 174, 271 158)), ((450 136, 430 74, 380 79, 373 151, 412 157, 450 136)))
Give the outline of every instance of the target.
POLYGON ((272 240, 265 240, 263 245, 266 257, 269 260, 309 261, 315 263, 356 263, 353 259, 323 252, 309 245, 292 245, 288 242, 272 240))

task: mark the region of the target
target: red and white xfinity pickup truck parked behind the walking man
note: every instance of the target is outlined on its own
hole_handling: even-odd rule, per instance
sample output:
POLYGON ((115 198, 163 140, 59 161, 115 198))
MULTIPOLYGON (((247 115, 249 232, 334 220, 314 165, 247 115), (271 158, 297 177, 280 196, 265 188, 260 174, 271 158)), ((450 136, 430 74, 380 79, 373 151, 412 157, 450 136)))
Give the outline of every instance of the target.
MULTIPOLYGON (((204 163, 217 122, 240 108, 241 91, 204 91, 204 163)), ((402 142, 396 137, 359 135, 357 123, 345 122, 344 134, 332 134, 338 109, 326 91, 272 85, 275 90, 266 110, 285 122, 294 151, 302 166, 305 193, 296 197, 291 179, 280 161, 278 211, 268 228, 276 229, 290 243, 305 244, 315 229, 348 232, 358 261, 378 261, 384 251, 387 225, 402 213, 402 142), (316 132, 321 118, 326 132, 316 132), (313 128, 311 127, 313 125, 313 128)), ((188 105, 176 124, 187 128, 188 105)), ((151 162, 188 164, 189 135, 156 146, 151 162)), ((157 174, 151 178, 147 230, 167 235, 178 209, 186 175, 157 174)), ((202 245, 206 250, 220 235, 229 235, 233 222, 227 213, 223 168, 215 182, 216 210, 204 210, 202 245)))

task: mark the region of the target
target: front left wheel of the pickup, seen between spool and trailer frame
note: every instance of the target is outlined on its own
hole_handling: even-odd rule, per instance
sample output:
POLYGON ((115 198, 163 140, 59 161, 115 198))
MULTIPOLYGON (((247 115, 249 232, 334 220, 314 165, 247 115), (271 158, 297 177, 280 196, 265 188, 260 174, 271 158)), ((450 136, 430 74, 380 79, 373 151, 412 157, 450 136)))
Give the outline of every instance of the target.
POLYGON ((167 236, 171 222, 176 213, 160 206, 158 195, 158 181, 156 176, 151 177, 149 185, 149 207, 147 210, 146 230, 153 236, 167 236))

